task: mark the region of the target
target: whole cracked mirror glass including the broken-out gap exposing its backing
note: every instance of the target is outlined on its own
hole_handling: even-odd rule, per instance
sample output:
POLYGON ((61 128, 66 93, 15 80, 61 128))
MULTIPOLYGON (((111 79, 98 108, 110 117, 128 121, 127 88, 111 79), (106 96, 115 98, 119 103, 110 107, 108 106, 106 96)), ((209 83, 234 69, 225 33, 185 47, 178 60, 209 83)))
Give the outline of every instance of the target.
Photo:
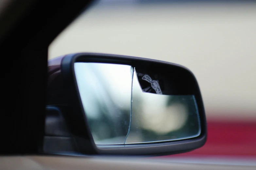
POLYGON ((130 65, 75 63, 81 101, 96 145, 200 135, 194 95, 172 95, 175 81, 130 65))

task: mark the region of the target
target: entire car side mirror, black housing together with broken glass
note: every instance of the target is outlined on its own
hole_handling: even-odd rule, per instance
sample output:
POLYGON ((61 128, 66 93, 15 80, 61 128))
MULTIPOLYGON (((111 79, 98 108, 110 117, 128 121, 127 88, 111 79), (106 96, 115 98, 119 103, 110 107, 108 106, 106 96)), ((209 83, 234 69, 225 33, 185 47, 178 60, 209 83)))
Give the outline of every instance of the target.
MULTIPOLYGON (((203 101, 187 68, 96 53, 69 54, 56 59, 57 64, 54 60, 48 68, 59 67, 59 85, 67 98, 55 107, 69 107, 70 111, 57 110, 62 110, 59 114, 74 141, 70 145, 77 148, 74 152, 167 155, 205 144, 203 101)), ((45 152, 67 154, 61 147, 45 152)))

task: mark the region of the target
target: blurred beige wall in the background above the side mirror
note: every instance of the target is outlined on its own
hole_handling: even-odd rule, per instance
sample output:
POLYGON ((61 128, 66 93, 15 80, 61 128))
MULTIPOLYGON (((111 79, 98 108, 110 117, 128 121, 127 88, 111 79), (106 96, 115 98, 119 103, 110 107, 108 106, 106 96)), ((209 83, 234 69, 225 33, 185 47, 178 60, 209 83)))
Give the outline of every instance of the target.
POLYGON ((49 48, 49 59, 100 52, 184 65, 208 118, 256 120, 256 3, 95 6, 49 48))

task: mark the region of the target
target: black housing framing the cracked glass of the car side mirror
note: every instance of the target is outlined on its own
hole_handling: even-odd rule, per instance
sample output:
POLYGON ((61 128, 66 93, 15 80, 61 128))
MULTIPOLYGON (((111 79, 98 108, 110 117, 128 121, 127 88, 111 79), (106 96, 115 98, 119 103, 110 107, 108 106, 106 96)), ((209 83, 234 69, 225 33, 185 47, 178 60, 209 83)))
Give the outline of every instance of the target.
MULTIPOLYGON (((67 126, 69 134, 71 134, 70 137, 72 137, 73 144, 70 145, 75 145, 76 149, 73 152, 72 150, 67 151, 64 148, 52 151, 48 149, 47 151, 45 150, 45 152, 64 155, 169 155, 188 152, 200 148, 205 144, 207 130, 203 101, 196 78, 187 68, 178 64, 158 60, 98 53, 69 54, 59 58, 58 62, 52 63, 54 64, 48 65, 48 68, 57 68, 62 78, 61 86, 66 92, 65 104, 58 103, 54 107, 63 107, 61 105, 69 107, 68 110, 70 111, 60 111, 60 115, 67 126), (197 136, 179 140, 118 145, 96 145, 78 90, 74 69, 74 64, 77 62, 125 64, 135 68, 143 68, 147 70, 154 68, 159 70, 161 75, 169 78, 171 82, 175 82, 175 85, 171 88, 172 95, 193 95, 195 97, 196 108, 199 115, 200 133, 197 136)), ((45 126, 47 126, 47 124, 45 126)), ((63 138, 63 140, 65 140, 65 138, 63 138)))

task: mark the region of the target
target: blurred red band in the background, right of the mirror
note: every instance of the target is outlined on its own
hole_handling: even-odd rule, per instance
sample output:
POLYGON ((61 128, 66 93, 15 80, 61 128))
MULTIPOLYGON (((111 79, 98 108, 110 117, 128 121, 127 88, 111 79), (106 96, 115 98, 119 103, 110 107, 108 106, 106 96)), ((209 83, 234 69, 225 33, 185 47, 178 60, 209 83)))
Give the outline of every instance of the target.
POLYGON ((256 156, 256 122, 207 121, 206 144, 188 153, 177 156, 256 156))

